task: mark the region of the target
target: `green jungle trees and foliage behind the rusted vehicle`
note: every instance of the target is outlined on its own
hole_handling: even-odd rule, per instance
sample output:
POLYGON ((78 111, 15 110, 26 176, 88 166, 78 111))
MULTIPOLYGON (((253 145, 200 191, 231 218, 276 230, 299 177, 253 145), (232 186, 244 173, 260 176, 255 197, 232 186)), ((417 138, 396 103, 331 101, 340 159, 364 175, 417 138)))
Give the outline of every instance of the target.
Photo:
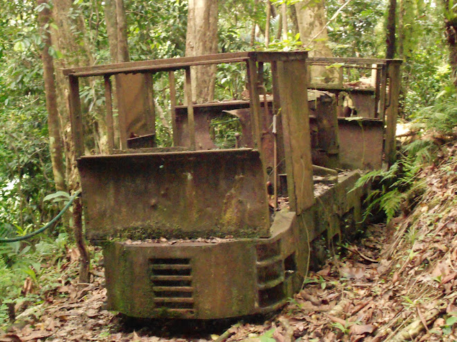
MULTIPOLYGON (((0 238, 43 227, 79 189, 60 68, 249 50, 388 56, 404 61, 400 116, 413 123, 416 140, 404 152, 408 162, 384 176, 409 172, 413 184, 413 176, 436 157, 436 149, 422 148, 456 135, 454 0, 0 0, 0 5, 0 238)), ((170 146, 170 97, 161 77, 154 79, 156 134, 160 144, 170 146)), ((208 69, 197 77, 197 102, 243 97, 245 75, 238 68, 208 69), (212 88, 214 77, 221 82, 212 88)), ((177 82, 183 84, 183 77, 177 82)), ((80 92, 98 137, 89 150, 106 145, 100 89, 90 79, 80 92)), ((221 144, 234 139, 222 127, 217 135, 221 144)), ((386 185, 380 204, 388 219, 401 210, 407 197, 402 193, 411 184, 386 185)), ((0 332, 26 307, 72 295, 56 290, 67 285, 63 279, 78 277, 67 267, 71 261, 100 259, 100 251, 88 251, 84 243, 80 218, 77 202, 73 213, 46 233, 25 243, 0 243, 0 332)), ((82 263, 80 276, 89 283, 88 263, 82 263)))

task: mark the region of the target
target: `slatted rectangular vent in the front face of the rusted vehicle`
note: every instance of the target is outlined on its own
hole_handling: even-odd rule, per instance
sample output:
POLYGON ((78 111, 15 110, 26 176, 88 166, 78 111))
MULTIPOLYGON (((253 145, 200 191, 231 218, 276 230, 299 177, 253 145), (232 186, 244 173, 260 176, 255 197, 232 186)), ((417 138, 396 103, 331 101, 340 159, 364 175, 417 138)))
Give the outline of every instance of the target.
POLYGON ((150 260, 154 303, 171 311, 192 311, 194 307, 190 259, 150 260))

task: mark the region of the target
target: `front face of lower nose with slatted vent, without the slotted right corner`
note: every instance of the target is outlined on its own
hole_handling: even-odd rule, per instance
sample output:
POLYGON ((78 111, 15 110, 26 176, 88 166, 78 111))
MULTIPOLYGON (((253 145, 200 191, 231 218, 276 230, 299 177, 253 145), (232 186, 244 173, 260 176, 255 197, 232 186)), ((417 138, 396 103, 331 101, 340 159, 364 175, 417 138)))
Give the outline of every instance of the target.
POLYGON ((104 249, 108 306, 144 318, 217 319, 249 314, 256 310, 252 245, 247 240, 111 243, 104 249))

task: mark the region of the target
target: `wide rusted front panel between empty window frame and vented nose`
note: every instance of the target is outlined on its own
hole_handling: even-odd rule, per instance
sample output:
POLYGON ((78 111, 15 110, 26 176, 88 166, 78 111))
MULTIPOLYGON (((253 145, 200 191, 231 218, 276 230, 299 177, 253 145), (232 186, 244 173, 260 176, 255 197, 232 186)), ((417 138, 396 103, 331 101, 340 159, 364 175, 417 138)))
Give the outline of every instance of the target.
POLYGON ((259 154, 251 149, 78 160, 87 236, 268 236, 259 154))

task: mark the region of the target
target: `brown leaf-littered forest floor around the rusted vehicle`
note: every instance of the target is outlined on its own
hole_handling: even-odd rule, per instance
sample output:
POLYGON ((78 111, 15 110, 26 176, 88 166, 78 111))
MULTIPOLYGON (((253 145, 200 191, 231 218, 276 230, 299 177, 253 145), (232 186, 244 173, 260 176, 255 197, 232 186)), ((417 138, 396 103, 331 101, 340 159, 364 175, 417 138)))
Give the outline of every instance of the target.
POLYGON ((99 267, 90 284, 62 279, 0 342, 457 341, 457 144, 417 178, 426 190, 413 208, 343 245, 280 312, 204 326, 132 326, 105 310, 99 267))

